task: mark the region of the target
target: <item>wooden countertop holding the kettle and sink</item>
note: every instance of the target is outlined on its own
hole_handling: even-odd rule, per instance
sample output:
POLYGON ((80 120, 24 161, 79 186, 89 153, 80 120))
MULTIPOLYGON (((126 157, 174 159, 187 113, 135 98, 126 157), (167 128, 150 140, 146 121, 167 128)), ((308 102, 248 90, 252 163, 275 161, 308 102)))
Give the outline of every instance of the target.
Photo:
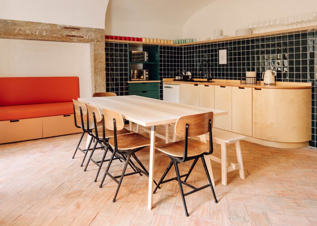
MULTIPOLYGON (((206 81, 206 79, 195 79, 206 81)), ((223 85, 223 86, 238 86, 238 87, 251 87, 259 89, 311 89, 312 83, 309 82, 276 82, 275 85, 264 85, 261 81, 260 85, 252 84, 240 84, 240 80, 223 80, 213 79, 215 82, 184 82, 184 81, 173 81, 173 78, 164 78, 164 84, 179 85, 181 83, 186 84, 201 84, 201 85, 223 85)))

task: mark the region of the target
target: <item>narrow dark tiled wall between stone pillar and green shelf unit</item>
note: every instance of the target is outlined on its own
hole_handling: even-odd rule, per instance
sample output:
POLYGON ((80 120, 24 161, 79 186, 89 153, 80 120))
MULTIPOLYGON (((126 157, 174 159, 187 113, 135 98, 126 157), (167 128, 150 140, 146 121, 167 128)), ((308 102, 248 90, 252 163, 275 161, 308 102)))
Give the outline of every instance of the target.
POLYGON ((106 91, 118 96, 128 95, 129 51, 128 44, 105 43, 106 91))

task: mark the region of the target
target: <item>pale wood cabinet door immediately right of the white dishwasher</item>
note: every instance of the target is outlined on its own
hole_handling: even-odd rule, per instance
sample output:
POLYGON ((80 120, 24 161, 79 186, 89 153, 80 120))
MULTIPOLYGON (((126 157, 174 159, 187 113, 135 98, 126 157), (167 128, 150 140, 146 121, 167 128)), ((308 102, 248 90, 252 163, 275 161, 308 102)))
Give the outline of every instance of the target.
POLYGON ((180 84, 180 103, 199 106, 198 84, 180 84))

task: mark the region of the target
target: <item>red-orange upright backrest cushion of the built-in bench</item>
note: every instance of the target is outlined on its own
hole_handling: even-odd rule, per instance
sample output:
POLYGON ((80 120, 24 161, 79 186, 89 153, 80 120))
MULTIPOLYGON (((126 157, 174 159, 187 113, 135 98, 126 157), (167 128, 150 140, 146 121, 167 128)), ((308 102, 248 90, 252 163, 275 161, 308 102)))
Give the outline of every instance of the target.
POLYGON ((78 97, 78 77, 0 78, 0 106, 70 102, 78 97))

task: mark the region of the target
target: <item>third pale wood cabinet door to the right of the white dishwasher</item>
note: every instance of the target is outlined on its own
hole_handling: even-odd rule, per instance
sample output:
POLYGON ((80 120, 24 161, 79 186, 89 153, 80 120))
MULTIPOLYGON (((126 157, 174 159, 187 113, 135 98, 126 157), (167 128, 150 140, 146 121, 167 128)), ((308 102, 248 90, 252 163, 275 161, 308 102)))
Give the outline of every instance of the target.
POLYGON ((231 86, 215 85, 215 109, 228 111, 228 115, 215 117, 216 128, 231 131, 231 86))

